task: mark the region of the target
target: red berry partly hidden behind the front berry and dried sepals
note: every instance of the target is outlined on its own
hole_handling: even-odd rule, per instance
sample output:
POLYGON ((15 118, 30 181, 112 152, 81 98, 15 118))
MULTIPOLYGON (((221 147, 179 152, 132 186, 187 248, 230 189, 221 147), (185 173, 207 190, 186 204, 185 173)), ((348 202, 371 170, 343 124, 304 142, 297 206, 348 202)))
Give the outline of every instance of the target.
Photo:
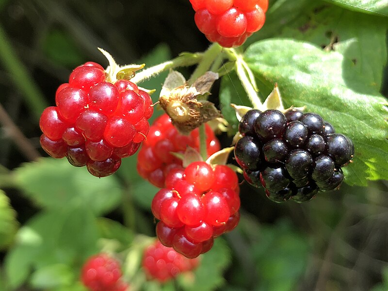
MULTIPOLYGON (((220 143, 209 125, 206 125, 206 136, 207 152, 211 156, 220 150, 220 143)), ((194 129, 189 135, 182 135, 167 114, 158 117, 139 151, 137 170, 140 176, 163 188, 167 173, 173 168, 182 167, 182 161, 171 152, 184 153, 187 146, 199 149, 198 129, 194 129)))

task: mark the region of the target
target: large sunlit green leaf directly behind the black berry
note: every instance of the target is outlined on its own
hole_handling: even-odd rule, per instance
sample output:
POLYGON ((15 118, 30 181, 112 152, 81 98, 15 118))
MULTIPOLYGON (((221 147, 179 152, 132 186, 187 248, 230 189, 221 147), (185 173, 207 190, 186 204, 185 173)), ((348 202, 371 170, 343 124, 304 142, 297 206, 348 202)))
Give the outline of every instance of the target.
POLYGON ((352 139, 354 162, 344 168, 348 184, 388 178, 387 101, 356 92, 367 85, 350 60, 287 39, 258 42, 247 49, 245 60, 259 79, 278 83, 286 107, 306 105, 352 139))

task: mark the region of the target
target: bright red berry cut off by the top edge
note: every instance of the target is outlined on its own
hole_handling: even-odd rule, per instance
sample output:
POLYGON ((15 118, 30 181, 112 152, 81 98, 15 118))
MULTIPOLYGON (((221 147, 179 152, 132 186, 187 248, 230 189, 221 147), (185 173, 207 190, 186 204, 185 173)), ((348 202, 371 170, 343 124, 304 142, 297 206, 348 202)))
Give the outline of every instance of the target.
POLYGON ((190 0, 198 29, 226 48, 241 46, 265 22, 268 0, 190 0))

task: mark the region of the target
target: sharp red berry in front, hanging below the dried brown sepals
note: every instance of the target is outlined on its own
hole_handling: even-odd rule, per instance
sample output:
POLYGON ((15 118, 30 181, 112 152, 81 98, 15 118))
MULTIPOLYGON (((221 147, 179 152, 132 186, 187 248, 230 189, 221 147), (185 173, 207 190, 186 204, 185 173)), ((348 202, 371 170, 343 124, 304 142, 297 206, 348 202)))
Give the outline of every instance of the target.
POLYGON ((173 169, 165 184, 151 204, 163 245, 193 259, 210 250, 214 237, 237 226, 240 189, 228 166, 193 162, 186 169, 173 169))

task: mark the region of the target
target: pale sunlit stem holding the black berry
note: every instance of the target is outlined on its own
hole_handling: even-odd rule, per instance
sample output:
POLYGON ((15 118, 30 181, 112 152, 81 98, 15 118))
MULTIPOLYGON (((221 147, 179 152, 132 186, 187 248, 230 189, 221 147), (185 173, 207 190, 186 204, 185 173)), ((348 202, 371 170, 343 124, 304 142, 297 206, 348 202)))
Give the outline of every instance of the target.
POLYGON ((231 61, 236 61, 237 76, 239 77, 253 107, 262 109, 263 104, 261 103, 257 93, 259 90, 256 86, 255 77, 253 76, 253 73, 248 65, 243 60, 242 55, 239 54, 235 49, 227 49, 226 52, 228 53, 229 59, 231 61))

